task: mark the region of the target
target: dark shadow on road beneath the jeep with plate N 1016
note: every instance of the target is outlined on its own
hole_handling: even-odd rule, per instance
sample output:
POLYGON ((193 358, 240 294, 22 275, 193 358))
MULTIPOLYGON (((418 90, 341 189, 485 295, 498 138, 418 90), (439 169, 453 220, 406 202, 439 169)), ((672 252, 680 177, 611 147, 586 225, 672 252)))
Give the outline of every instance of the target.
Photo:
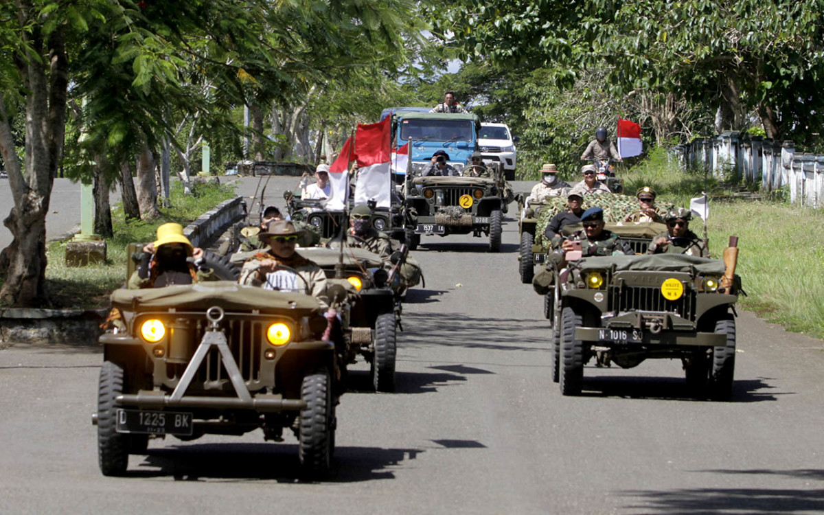
MULTIPOLYGON (((597 368, 587 368, 597 370, 597 368)), ((585 372, 586 373, 586 372, 585 372)), ((733 385, 731 402, 761 402, 777 400, 775 393, 761 391, 771 389, 762 379, 736 381, 733 385)), ((583 378, 583 396, 627 397, 631 399, 670 399, 670 400, 707 400, 706 396, 696 395, 686 386, 680 377, 587 377, 583 378)))

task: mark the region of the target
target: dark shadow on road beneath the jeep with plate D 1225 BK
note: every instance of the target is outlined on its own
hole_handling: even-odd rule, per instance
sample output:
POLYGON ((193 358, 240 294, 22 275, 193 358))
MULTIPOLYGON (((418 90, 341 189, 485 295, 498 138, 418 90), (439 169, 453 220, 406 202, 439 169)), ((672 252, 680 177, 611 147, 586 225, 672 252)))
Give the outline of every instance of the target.
MULTIPOLYGON (((332 471, 323 482, 391 480, 395 474, 387 470, 388 467, 414 460, 420 452, 424 450, 337 447, 332 471)), ((179 481, 275 480, 293 483, 301 480, 297 446, 279 443, 180 444, 150 448, 148 455, 138 463, 137 470, 133 468, 128 475, 171 476, 179 481), (146 470, 145 467, 159 470, 146 470)))

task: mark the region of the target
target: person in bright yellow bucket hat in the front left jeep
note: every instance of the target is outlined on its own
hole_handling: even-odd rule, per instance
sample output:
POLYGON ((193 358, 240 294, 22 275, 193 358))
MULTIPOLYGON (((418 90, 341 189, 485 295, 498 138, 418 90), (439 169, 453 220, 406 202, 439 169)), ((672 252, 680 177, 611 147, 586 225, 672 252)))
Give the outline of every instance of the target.
POLYGON ((203 249, 195 248, 183 236, 180 223, 164 223, 157 227, 157 240, 143 247, 143 258, 129 278, 129 288, 162 288, 212 279, 213 272, 204 267, 203 257, 203 249))

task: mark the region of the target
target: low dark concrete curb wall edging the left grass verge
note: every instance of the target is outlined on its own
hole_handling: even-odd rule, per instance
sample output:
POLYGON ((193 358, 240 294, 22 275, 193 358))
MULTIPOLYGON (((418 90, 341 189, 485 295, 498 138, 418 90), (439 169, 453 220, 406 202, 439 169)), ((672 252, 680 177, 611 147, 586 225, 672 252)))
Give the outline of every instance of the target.
MULTIPOLYGON (((194 246, 208 246, 228 227, 246 217, 246 202, 235 197, 222 202, 186 226, 194 246)), ((99 310, 0 309, 0 343, 96 345, 109 308, 99 310)))

